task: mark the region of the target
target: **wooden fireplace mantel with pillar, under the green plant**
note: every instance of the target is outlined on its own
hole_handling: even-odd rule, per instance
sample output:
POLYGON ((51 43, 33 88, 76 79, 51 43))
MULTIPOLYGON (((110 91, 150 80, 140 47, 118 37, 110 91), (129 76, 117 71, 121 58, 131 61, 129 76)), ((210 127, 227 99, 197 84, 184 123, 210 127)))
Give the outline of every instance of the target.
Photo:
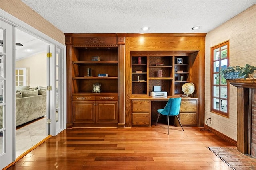
POLYGON ((237 87, 237 150, 250 154, 252 90, 256 89, 256 79, 228 79, 237 87))

